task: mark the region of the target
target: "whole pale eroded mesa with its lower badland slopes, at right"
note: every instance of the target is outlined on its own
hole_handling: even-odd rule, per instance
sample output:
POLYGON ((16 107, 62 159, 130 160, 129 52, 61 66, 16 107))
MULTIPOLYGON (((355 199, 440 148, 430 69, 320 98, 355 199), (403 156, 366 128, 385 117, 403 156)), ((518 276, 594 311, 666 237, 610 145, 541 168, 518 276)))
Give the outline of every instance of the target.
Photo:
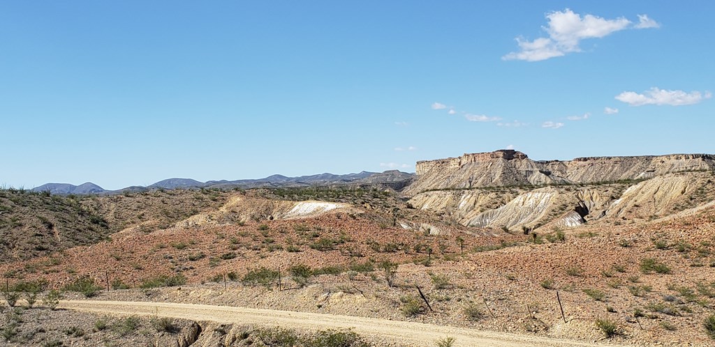
POLYGON ((666 216, 708 201, 715 156, 533 161, 513 150, 419 161, 410 203, 463 226, 505 229, 666 216))

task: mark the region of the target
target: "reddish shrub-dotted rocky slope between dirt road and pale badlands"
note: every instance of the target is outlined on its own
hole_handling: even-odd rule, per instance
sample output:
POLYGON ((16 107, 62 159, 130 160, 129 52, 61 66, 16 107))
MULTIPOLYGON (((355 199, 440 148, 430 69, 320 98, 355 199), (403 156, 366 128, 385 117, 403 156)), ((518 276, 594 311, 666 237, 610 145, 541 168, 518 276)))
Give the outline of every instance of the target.
MULTIPOLYGON (((640 225, 584 226, 563 236, 557 232, 536 238, 463 234, 463 255, 455 235, 398 232, 366 221, 364 228, 350 228, 357 224, 349 216, 332 215, 300 223, 270 221, 265 223, 266 230, 258 230, 264 224, 249 223, 127 236, 66 251, 58 264, 35 273, 22 272, 25 278, 13 281, 44 276, 59 286, 61 278, 77 276, 66 268, 82 265, 102 274, 109 271, 104 267, 109 263, 116 271, 123 266, 127 266, 125 271, 135 271, 135 283, 123 281, 139 286, 139 273, 173 274, 177 266, 188 266, 178 273, 189 285, 101 291, 95 298, 347 314, 582 341, 606 340, 596 322, 607 321, 615 326, 607 340, 611 343, 714 344, 703 324, 713 314, 715 298, 713 208, 640 225), (313 237, 314 232, 320 235, 313 237), (310 247, 321 238, 339 240, 341 234, 350 241, 325 249, 310 247), (291 237, 292 243, 287 240, 291 237), (265 243, 266 238, 274 241, 265 243), (250 251, 272 243, 283 249, 268 251, 267 246, 260 246, 250 251), (385 251, 392 243, 405 245, 395 251, 388 246, 385 251), (420 243, 432 246, 433 252, 415 251, 420 243), (290 244, 300 251, 287 251, 290 244), (235 258, 220 256, 231 251, 237 254, 235 258), (201 252, 207 256, 197 261, 187 258, 201 252), (212 265, 212 257, 221 260, 212 265), (383 261, 400 265, 393 268, 383 261), (313 272, 290 273, 290 267, 297 265, 313 272), (247 279, 250 271, 260 267, 280 268, 280 288, 270 272, 247 279), (321 271, 325 274, 314 275, 321 271)), ((12 270, 6 266, 4 271, 12 270)), ((97 283, 103 283, 101 278, 97 283)))

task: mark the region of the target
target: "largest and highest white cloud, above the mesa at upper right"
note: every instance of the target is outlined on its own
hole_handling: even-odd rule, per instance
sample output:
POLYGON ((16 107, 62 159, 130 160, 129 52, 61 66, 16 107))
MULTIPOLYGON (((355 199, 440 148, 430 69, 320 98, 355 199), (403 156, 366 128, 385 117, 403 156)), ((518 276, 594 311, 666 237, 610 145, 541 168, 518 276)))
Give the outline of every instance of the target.
POLYGON ((516 38, 519 46, 518 52, 511 52, 502 56, 503 60, 541 61, 568 53, 581 51, 578 44, 583 39, 599 39, 616 31, 628 28, 646 29, 657 28, 659 24, 647 15, 638 15, 639 22, 626 18, 603 19, 599 16, 576 14, 571 9, 553 11, 546 14, 547 26, 542 26, 548 37, 540 37, 533 41, 516 38))

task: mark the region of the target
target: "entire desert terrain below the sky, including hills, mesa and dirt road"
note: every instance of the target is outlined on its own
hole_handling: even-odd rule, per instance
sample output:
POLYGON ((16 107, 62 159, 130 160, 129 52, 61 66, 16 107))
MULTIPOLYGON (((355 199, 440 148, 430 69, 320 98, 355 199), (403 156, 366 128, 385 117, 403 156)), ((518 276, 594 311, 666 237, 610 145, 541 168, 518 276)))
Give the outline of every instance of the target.
POLYGON ((1 294, 75 300, 0 305, 0 345, 715 346, 714 201, 711 155, 512 150, 322 186, 0 189, 1 294))

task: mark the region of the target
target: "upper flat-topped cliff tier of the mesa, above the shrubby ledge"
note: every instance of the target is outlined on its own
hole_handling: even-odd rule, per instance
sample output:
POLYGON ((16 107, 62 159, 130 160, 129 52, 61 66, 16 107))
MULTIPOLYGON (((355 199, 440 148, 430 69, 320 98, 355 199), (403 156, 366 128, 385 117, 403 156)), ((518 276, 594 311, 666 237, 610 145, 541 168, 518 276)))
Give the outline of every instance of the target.
POLYGON ((418 161, 417 179, 405 193, 413 196, 435 189, 622 181, 701 170, 715 170, 715 156, 670 154, 533 161, 519 151, 503 149, 464 154, 458 158, 418 161))

